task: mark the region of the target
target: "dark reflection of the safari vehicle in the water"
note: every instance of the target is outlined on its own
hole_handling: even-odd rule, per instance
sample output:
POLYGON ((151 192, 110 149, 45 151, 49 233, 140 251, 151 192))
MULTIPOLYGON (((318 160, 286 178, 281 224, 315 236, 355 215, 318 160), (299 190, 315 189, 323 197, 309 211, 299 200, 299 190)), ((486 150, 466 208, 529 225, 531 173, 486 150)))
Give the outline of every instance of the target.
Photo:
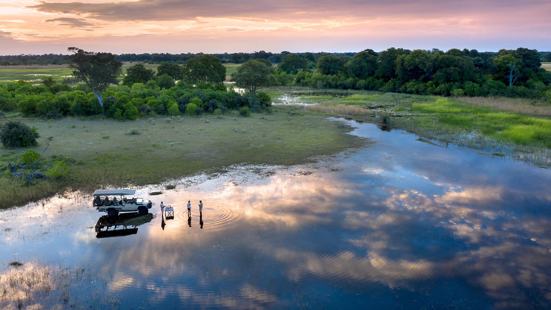
MULTIPOLYGON (((120 237, 138 233, 136 226, 150 222, 153 215, 139 215, 134 213, 120 213, 116 216, 100 216, 94 226, 96 238, 120 237)), ((163 227, 164 228, 164 227, 163 227)))

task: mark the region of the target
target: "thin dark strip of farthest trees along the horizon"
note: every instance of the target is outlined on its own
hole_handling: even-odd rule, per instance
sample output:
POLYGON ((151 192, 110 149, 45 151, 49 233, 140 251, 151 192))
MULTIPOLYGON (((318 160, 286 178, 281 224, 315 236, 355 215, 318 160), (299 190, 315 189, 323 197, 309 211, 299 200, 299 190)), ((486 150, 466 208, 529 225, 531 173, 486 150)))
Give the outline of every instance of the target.
MULTIPOLYGON (((407 50, 406 50, 407 51, 407 50)), ((433 50, 427 50, 427 52, 433 52, 437 51, 435 49, 433 50)), ((463 50, 471 53, 471 51, 476 50, 463 50)), ((478 53, 478 52, 477 52, 478 53)), ((272 52, 266 52, 266 51, 258 51, 253 53, 233 53, 233 54, 210 54, 214 55, 220 60, 222 60, 223 63, 244 63, 251 59, 266 59, 271 63, 280 63, 285 55, 291 54, 288 51, 283 51, 280 53, 272 53, 272 52)), ((346 52, 346 53, 328 53, 328 52, 318 52, 318 53, 311 53, 311 52, 304 52, 304 53, 295 53, 297 55, 304 56, 306 58, 314 58, 316 60, 317 58, 320 58, 321 56, 333 54, 336 56, 354 56, 355 52, 346 52)), ((493 55, 497 56, 499 52, 483 52, 483 54, 493 55)), ((542 62, 551 62, 551 52, 537 52, 539 56, 539 60, 542 62)), ((132 62, 148 62, 148 63, 161 63, 161 62, 174 62, 174 63, 185 63, 187 60, 190 60, 191 58, 196 58, 199 55, 203 55, 203 53, 197 53, 197 54, 168 54, 168 53, 144 53, 144 54, 121 54, 116 55, 116 58, 120 61, 132 61, 132 62)), ((67 63, 67 56, 69 55, 62 55, 62 54, 42 54, 42 55, 34 55, 34 54, 21 54, 21 55, 7 55, 7 56, 0 56, 0 65, 2 66, 10 66, 10 65, 63 65, 64 63, 67 63)))

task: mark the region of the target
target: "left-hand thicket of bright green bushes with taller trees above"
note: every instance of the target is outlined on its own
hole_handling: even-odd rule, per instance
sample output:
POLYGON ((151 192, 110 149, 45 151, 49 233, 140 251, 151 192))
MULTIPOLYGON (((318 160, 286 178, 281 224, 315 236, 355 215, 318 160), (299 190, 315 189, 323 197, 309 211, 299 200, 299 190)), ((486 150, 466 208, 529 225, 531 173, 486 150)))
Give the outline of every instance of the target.
POLYGON ((183 66, 164 62, 156 72, 137 63, 127 69, 123 83, 118 85, 122 62, 115 55, 77 47, 68 50, 73 52, 67 59, 69 68, 74 79, 82 83, 58 84, 48 76, 39 85, 4 83, 0 85, 0 114, 18 111, 45 119, 73 115, 123 121, 155 115, 222 115, 228 109, 247 116, 250 111, 271 106, 267 94, 228 90, 222 83, 226 68, 212 55, 199 55, 183 66))

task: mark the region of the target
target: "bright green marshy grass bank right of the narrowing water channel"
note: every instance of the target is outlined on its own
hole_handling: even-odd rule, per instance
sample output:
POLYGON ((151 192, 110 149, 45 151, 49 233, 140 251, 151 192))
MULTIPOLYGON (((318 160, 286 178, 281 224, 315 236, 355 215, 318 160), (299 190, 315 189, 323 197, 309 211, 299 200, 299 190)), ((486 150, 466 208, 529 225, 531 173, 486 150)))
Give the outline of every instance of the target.
POLYGON ((271 88, 268 93, 279 103, 384 123, 423 138, 551 167, 551 104, 545 101, 301 88, 271 88))

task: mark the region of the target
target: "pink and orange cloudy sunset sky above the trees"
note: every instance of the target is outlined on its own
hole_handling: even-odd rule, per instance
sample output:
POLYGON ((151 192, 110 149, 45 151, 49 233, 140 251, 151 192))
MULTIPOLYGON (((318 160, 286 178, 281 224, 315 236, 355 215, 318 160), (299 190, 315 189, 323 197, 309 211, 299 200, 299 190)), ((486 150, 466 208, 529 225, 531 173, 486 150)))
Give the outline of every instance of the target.
POLYGON ((550 0, 0 0, 0 55, 551 50, 550 0))

